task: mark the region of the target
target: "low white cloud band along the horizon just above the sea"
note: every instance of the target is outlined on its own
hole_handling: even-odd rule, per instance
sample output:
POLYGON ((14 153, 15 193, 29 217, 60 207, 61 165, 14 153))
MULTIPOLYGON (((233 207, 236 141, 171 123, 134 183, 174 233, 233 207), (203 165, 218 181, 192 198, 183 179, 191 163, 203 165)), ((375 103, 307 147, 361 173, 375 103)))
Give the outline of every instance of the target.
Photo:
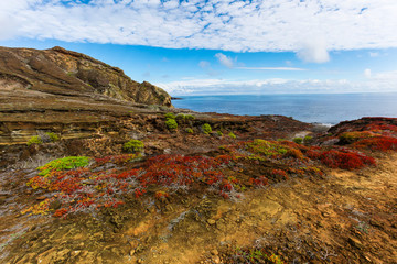
MULTIPOLYGON (((365 70, 365 74, 371 70, 365 70)), ((240 95, 240 94, 343 94, 397 91, 397 70, 372 73, 369 78, 352 81, 346 79, 194 79, 155 84, 172 96, 183 95, 240 95)))

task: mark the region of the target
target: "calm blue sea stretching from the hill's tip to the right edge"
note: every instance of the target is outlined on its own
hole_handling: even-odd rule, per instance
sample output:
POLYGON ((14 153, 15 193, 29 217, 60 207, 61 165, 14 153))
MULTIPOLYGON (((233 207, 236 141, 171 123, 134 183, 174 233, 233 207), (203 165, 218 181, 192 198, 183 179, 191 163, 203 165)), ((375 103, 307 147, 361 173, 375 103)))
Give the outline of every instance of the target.
POLYGON ((176 108, 232 114, 282 114, 304 122, 336 124, 362 117, 397 118, 397 92, 337 95, 189 96, 176 108))

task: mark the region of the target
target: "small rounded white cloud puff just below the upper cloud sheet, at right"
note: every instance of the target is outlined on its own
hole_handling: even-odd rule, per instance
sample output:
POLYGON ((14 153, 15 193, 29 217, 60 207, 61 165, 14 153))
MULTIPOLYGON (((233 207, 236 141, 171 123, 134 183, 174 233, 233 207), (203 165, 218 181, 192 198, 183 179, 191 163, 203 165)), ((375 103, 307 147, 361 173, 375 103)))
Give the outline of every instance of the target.
POLYGON ((307 63, 326 63, 330 55, 326 51, 325 42, 322 40, 311 40, 302 45, 297 53, 298 57, 307 63))

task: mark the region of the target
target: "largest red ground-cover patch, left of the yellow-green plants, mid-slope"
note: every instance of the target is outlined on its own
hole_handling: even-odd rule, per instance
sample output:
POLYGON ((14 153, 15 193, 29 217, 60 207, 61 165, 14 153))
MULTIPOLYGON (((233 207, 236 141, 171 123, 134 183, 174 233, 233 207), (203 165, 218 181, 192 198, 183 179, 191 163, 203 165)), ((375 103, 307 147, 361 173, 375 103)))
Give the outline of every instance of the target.
POLYGON ((54 217, 64 217, 78 211, 93 212, 101 207, 118 207, 124 204, 122 195, 130 193, 135 198, 140 198, 147 193, 149 185, 168 187, 172 190, 189 189, 194 185, 205 184, 216 187, 219 195, 227 194, 228 197, 229 193, 235 191, 234 184, 238 183, 236 178, 228 178, 223 173, 234 160, 228 155, 217 157, 159 155, 149 158, 140 168, 124 172, 92 170, 106 162, 125 163, 130 158, 130 155, 111 156, 97 160, 97 164, 92 167, 47 169, 45 175, 34 176, 28 185, 34 189, 46 189, 52 197, 24 212, 45 215, 51 211, 50 204, 54 200, 61 202, 61 208, 53 213, 54 217))

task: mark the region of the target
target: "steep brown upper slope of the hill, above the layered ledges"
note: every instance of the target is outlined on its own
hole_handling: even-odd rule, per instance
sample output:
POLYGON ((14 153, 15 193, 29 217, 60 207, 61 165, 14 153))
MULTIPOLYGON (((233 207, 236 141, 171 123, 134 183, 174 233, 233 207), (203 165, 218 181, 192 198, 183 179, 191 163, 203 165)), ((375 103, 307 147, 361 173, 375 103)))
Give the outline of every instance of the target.
POLYGON ((133 81, 117 67, 58 46, 44 51, 0 47, 0 90, 14 89, 74 97, 98 94, 172 107, 163 89, 133 81))

